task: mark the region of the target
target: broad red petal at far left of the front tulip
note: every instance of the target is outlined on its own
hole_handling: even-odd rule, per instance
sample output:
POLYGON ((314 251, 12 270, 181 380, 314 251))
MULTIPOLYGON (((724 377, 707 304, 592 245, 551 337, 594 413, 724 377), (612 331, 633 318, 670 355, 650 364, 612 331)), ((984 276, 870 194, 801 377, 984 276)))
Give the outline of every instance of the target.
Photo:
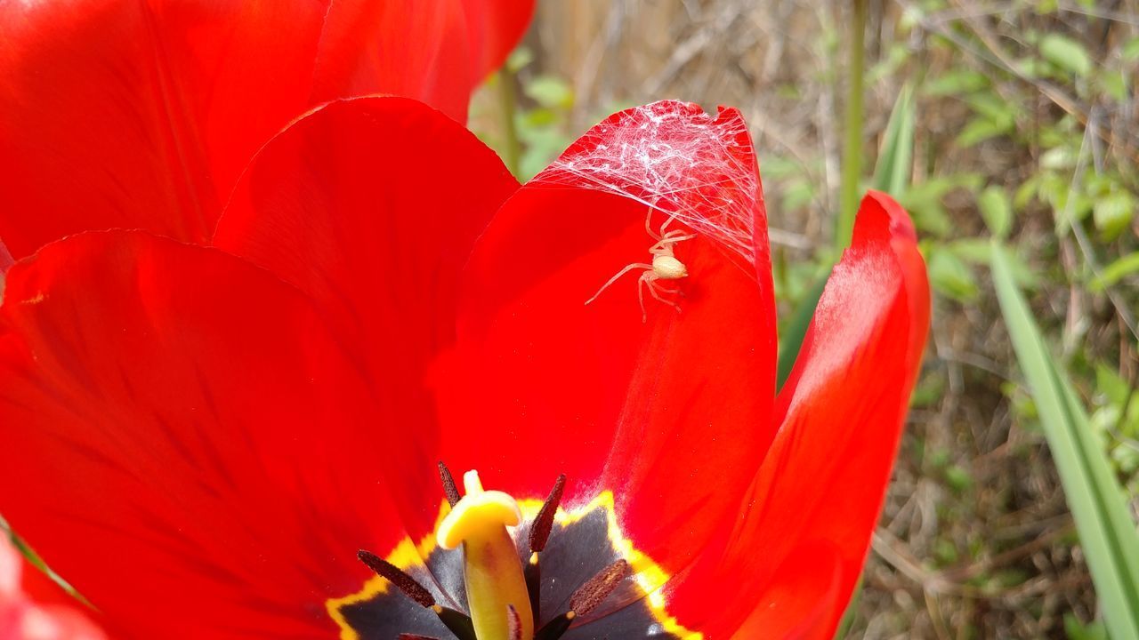
MULTIPOLYGON (((13 266, 0 511, 116 635, 313 638, 403 535, 380 413, 306 301, 215 249, 88 233, 13 266)), ((434 486, 421 491, 429 526, 434 486)))

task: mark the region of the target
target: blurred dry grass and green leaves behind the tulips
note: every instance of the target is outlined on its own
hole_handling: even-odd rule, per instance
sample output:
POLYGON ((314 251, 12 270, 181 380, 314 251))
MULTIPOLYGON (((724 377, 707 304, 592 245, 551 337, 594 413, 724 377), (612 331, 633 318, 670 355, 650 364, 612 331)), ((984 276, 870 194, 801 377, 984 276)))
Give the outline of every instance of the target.
POLYGON ((1101 605, 1046 442, 1057 432, 1040 419, 1054 412, 1033 401, 1033 371, 1010 339, 1022 350, 1031 329, 1003 319, 1009 289, 999 304, 989 265, 997 238, 1008 281, 1025 293, 1024 318, 1039 323, 1087 413, 1079 433, 1106 454, 1133 509, 1137 71, 1137 0, 549 1, 477 97, 472 125, 525 178, 624 106, 739 107, 760 153, 780 314, 792 325, 842 244, 844 115, 861 80, 859 191, 884 179, 876 163, 893 167, 935 300, 847 633, 1098 639, 1101 605), (861 64, 850 55, 855 6, 866 8, 861 64), (891 140, 892 114, 890 130, 911 143, 891 140))

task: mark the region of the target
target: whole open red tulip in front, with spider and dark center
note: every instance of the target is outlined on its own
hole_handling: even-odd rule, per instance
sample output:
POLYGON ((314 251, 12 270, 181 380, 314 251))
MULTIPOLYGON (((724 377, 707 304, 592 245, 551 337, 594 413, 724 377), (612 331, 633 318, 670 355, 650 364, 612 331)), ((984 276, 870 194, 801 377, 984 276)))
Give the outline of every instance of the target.
POLYGON ((116 637, 834 632, 928 325, 890 197, 778 395, 734 109, 618 113, 519 188, 418 102, 333 102, 212 245, 8 271, 0 512, 116 637))

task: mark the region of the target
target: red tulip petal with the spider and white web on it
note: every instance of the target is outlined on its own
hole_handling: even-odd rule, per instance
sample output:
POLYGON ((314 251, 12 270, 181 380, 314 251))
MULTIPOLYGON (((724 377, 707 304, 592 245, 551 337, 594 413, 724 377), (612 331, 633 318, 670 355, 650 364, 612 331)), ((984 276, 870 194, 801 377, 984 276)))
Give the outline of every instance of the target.
POLYGON ((445 459, 535 497, 559 471, 570 500, 614 490, 638 545, 682 566, 734 517, 772 434, 765 224, 737 112, 658 102, 596 126, 476 245, 441 384, 445 459), (647 202, 699 237, 675 246, 690 273, 679 281, 681 313, 646 296, 644 323, 639 272, 585 301, 650 257, 647 202), (754 227, 754 260, 710 231, 727 220, 726 203, 734 224, 754 227))

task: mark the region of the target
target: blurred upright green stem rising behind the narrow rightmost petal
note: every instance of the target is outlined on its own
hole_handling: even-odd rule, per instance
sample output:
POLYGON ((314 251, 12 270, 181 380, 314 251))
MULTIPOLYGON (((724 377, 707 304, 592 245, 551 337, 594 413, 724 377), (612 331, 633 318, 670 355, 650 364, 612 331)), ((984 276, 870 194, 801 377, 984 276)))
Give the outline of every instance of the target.
POLYGON ((851 22, 850 67, 846 92, 846 143, 843 149, 842 184, 839 188, 838 223, 835 227, 835 247, 842 251, 850 244, 858 212, 858 184, 862 178, 862 121, 863 87, 866 80, 866 23, 869 0, 853 0, 854 19, 851 22))

